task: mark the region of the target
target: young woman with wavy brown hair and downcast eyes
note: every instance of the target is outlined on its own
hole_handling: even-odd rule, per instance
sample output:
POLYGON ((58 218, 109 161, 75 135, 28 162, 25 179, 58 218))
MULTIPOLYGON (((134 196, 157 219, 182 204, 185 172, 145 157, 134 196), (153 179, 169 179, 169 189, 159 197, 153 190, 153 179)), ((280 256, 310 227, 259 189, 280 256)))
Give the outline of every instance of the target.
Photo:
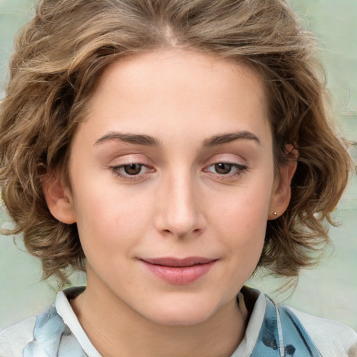
POLYGON ((328 241, 351 159, 284 1, 40 1, 1 104, 3 200, 86 288, 5 356, 354 356, 356 333, 244 287, 328 241))

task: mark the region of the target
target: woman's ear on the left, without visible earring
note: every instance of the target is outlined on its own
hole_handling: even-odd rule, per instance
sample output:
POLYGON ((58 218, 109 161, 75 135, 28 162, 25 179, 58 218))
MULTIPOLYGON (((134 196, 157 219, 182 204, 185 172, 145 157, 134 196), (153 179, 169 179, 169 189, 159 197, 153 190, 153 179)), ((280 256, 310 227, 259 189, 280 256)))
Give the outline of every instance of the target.
POLYGON ((63 183, 63 180, 54 174, 44 176, 42 183, 48 209, 54 218, 67 225, 75 223, 75 211, 69 185, 63 183))

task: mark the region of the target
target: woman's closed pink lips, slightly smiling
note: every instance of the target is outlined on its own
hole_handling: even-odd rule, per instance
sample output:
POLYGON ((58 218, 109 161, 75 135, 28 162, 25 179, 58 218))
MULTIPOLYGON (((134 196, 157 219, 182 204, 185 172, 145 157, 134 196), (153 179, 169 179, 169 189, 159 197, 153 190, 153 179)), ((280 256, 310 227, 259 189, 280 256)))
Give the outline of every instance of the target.
POLYGON ((196 282, 211 270, 218 259, 188 257, 177 259, 162 257, 140 259, 144 266, 156 277, 170 284, 190 284, 196 282))

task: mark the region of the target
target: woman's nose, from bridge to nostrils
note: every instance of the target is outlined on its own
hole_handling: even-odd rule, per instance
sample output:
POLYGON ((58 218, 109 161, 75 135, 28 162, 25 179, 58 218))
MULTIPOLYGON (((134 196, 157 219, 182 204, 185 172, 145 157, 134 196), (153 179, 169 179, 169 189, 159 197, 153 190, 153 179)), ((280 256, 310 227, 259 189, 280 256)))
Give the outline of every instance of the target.
POLYGON ((164 235, 177 238, 197 236, 206 227, 197 184, 190 176, 172 175, 160 185, 155 222, 156 229, 164 235))

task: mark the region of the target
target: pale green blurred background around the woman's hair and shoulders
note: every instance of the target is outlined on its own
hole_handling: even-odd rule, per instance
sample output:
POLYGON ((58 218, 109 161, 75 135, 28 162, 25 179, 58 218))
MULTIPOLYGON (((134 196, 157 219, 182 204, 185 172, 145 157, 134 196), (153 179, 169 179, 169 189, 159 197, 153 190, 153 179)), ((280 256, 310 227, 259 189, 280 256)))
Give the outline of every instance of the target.
MULTIPOLYGON (((264 0, 262 0, 264 1, 264 0)), ((0 0, 0 81, 6 76, 8 56, 17 29, 29 19, 30 0, 0 0)), ((321 38, 321 56, 328 72, 339 128, 357 141, 357 0, 292 0, 306 26, 321 38)), ((2 92, 3 93, 3 92, 2 92)), ((2 96, 2 94, 0 94, 2 96)), ((356 151, 353 153, 357 158, 356 151)), ((1 213, 1 222, 6 218, 1 213)), ((280 280, 259 276, 251 282, 277 296, 278 301, 321 317, 338 319, 357 329, 357 180, 352 179, 331 229, 335 250, 314 271, 303 271, 294 291, 275 294, 280 280)), ((7 223, 5 223, 7 224, 7 223)), ((36 314, 54 301, 55 282, 39 282, 40 264, 17 238, 0 238, 0 329, 36 314)), ((84 282, 76 277, 76 283, 84 282)))

